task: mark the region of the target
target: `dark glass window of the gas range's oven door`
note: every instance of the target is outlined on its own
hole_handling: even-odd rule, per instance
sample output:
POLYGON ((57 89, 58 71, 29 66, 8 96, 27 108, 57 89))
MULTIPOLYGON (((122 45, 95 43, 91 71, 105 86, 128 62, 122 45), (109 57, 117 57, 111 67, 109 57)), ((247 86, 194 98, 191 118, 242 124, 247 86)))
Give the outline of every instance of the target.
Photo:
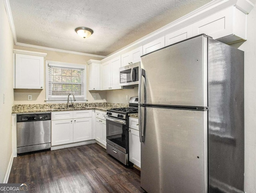
POLYGON ((113 143, 127 149, 128 146, 128 128, 127 125, 106 120, 107 139, 113 143))

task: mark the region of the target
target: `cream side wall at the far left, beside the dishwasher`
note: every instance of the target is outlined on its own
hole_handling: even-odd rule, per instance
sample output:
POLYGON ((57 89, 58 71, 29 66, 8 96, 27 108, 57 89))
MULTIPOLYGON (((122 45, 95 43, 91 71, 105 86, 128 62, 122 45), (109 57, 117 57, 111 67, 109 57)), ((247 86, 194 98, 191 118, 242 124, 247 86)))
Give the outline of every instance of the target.
POLYGON ((0 183, 12 156, 13 39, 4 2, 0 1, 0 183), (3 103, 3 95, 5 102, 3 103))

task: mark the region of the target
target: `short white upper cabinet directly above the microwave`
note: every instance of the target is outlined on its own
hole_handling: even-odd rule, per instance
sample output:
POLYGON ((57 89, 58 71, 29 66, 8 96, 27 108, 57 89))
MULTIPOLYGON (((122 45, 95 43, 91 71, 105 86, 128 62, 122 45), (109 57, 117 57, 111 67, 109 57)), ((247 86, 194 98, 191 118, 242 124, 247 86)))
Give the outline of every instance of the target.
POLYGON ((142 46, 136 48, 126 54, 121 55, 121 67, 140 62, 140 56, 142 56, 142 46))

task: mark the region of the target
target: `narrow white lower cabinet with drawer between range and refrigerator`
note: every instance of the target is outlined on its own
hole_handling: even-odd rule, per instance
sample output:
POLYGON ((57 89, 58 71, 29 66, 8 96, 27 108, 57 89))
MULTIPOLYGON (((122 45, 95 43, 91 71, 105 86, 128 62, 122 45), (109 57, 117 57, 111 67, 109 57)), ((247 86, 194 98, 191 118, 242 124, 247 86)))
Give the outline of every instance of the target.
POLYGON ((129 117, 129 161, 140 167, 140 155, 138 119, 129 117))

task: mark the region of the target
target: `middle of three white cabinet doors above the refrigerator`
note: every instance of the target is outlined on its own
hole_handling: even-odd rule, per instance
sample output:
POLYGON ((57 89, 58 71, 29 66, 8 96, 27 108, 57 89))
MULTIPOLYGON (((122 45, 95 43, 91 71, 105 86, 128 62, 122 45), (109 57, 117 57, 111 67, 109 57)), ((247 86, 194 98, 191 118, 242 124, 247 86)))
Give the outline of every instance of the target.
POLYGON ((182 40, 186 40, 193 36, 193 28, 192 25, 186 26, 180 30, 176 30, 170 34, 165 36, 165 46, 169 46, 176 42, 180 42, 182 40))

